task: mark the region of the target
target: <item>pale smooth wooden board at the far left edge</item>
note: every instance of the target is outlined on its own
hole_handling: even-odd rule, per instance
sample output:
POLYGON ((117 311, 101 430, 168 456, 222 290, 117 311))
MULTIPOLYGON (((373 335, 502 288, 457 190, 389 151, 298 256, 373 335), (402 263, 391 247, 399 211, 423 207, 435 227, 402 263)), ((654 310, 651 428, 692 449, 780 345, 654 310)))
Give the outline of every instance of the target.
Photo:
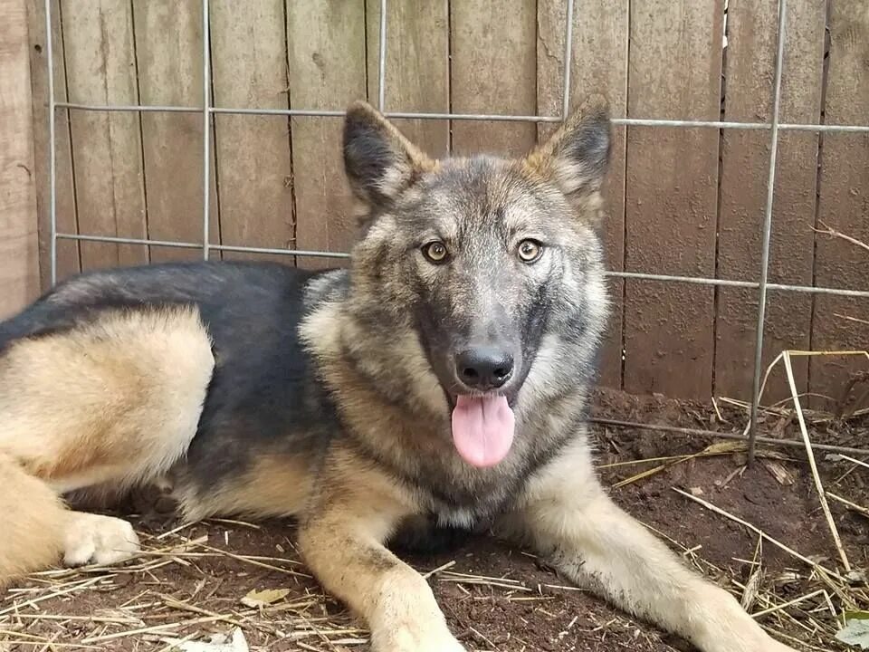
POLYGON ((0 319, 39 292, 27 13, 0 0, 0 319))

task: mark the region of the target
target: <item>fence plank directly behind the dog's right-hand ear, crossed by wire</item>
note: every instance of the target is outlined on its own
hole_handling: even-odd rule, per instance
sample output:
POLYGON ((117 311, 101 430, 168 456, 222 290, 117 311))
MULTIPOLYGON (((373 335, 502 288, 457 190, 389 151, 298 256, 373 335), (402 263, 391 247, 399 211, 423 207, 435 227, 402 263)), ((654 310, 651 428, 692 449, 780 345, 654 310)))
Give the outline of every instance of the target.
MULTIPOLYGON (((537 103, 543 115, 560 115, 564 95, 564 51, 567 5, 559 0, 538 3, 537 103)), ((616 9, 606 3, 582 4, 573 16, 570 62, 571 108, 589 93, 603 94, 611 115, 624 117, 627 110, 627 5, 616 9)), ((539 138, 546 138, 555 125, 541 123, 539 138)), ((625 127, 612 131, 612 153, 604 198, 606 222, 601 235, 606 245, 606 266, 624 269, 625 255, 625 127)), ((622 293, 624 283, 612 279, 609 292, 613 316, 600 359, 600 383, 622 386, 622 293)))

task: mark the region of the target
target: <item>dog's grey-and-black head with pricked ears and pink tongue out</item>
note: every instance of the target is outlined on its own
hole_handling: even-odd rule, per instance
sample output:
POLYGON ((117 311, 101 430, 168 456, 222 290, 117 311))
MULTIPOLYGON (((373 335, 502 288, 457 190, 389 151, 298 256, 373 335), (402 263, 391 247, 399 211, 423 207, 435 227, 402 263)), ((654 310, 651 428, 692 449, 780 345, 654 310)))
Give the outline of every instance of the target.
POLYGON ((418 334, 473 465, 509 451, 512 410, 553 322, 576 331, 587 302, 605 301, 594 227, 608 155, 600 101, 514 160, 435 161, 368 104, 349 108, 344 161, 363 231, 353 283, 376 297, 383 328, 418 334))

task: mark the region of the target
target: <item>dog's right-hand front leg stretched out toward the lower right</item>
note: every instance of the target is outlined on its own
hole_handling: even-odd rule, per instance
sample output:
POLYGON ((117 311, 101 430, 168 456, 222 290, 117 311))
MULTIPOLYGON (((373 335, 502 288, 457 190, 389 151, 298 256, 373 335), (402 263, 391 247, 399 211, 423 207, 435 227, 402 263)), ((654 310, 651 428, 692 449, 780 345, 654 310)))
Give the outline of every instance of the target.
POLYGON ((702 652, 793 652, 619 509, 598 484, 584 444, 532 480, 499 529, 530 543, 568 580, 702 652))

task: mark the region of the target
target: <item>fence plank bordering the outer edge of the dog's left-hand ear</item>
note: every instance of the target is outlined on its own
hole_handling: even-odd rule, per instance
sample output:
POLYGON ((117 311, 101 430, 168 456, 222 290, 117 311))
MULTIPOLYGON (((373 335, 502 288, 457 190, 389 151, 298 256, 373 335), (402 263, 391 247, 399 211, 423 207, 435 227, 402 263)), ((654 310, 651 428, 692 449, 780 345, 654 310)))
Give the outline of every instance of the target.
MULTIPOLYGON (((287 4, 290 102, 293 109, 343 110, 366 98, 364 0, 287 4)), ((341 120, 293 118, 296 243, 300 249, 348 251, 356 229, 341 157, 341 120)), ((301 258, 299 266, 339 260, 301 258)))

